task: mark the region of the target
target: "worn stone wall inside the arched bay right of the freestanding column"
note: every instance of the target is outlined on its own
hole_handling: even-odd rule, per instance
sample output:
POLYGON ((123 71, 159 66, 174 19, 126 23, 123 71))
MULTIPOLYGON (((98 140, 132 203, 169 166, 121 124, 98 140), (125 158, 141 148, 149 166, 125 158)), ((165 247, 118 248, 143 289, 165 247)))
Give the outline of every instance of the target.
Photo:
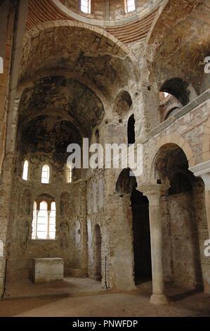
POLYGON ((203 287, 209 269, 204 257, 207 237, 204 187, 162 199, 164 279, 190 287, 203 287), (196 201, 196 203, 195 203, 196 201))

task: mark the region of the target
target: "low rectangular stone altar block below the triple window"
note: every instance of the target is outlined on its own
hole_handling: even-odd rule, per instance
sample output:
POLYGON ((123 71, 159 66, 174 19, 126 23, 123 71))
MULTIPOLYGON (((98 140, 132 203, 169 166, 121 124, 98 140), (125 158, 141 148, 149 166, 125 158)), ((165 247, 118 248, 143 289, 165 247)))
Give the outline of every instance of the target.
POLYGON ((34 283, 63 280, 63 258, 33 258, 29 261, 29 279, 34 283))

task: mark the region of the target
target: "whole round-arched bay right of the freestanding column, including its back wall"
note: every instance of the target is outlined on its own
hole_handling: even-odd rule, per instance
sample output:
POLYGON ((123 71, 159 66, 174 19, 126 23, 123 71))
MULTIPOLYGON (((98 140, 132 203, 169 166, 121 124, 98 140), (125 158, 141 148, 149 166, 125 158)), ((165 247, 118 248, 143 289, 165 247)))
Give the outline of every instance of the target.
POLYGON ((166 142, 159 147, 152 167, 153 182, 166 185, 166 191, 159 199, 163 229, 164 279, 202 288, 199 231, 201 222, 202 226, 206 226, 205 220, 200 220, 203 183, 188 169, 185 151, 172 142, 166 142), (188 261, 185 259, 186 254, 188 261))

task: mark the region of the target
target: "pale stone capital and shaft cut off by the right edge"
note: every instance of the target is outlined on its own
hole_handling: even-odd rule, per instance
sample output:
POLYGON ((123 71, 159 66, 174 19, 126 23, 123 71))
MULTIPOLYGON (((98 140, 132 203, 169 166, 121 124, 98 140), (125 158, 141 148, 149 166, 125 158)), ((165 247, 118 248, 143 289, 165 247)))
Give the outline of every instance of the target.
POLYGON ((202 177, 205 185, 205 204, 206 204, 206 218, 208 223, 208 232, 210 238, 210 160, 199 163, 194 167, 189 168, 195 177, 202 177))

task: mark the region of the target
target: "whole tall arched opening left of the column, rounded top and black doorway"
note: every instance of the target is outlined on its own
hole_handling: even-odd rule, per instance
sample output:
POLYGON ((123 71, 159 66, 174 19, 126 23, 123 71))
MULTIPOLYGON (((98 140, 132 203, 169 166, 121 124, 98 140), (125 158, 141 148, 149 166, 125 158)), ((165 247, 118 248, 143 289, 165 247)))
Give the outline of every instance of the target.
POLYGON ((122 205, 120 218, 124 219, 129 227, 128 246, 131 245, 131 261, 133 261, 133 281, 138 285, 140 282, 151 280, 151 245, 150 245, 150 221, 149 205, 146 196, 137 189, 136 177, 131 176, 129 168, 122 170, 116 183, 116 192, 119 194, 119 205, 122 205), (130 210, 126 210, 126 208, 130 210))

